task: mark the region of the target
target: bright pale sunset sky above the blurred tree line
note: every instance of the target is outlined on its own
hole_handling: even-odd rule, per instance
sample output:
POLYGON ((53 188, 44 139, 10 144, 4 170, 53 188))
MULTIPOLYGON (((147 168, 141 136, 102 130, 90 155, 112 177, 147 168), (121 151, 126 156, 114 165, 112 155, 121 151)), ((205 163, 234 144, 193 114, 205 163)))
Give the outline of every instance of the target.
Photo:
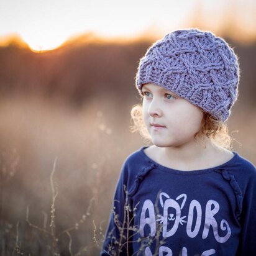
POLYGON ((160 37, 191 25, 248 40, 256 35, 255 11, 254 0, 0 0, 0 40, 17 35, 47 50, 87 32, 160 37))

